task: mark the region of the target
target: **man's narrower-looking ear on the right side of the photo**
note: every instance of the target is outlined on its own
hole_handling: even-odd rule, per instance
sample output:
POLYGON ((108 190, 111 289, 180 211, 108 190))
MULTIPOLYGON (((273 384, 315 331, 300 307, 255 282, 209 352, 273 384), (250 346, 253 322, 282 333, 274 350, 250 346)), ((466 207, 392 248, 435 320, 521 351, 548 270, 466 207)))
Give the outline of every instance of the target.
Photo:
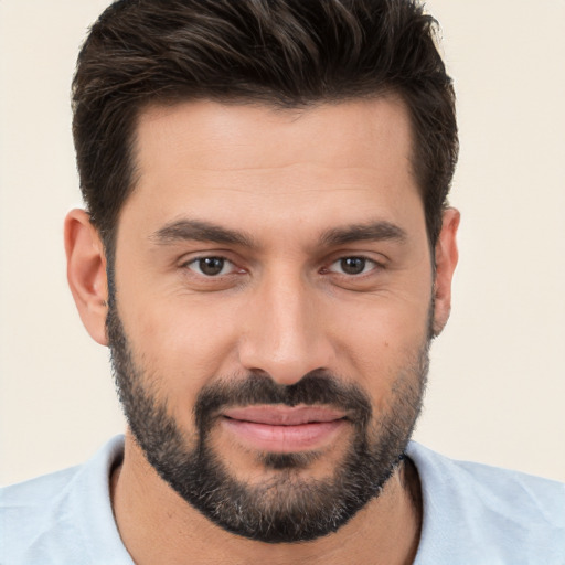
POLYGON ((459 253, 457 228, 461 215, 455 207, 444 211, 441 232, 436 243, 436 279, 434 282, 434 337, 439 335, 451 311, 451 280, 459 253))

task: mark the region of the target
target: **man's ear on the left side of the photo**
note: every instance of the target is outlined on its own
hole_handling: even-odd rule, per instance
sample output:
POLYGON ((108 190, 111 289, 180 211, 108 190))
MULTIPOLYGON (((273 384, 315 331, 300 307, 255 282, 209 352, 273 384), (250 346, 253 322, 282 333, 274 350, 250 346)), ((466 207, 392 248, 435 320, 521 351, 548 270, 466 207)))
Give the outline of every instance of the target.
POLYGON ((107 345, 108 284, 106 256, 97 230, 84 210, 65 218, 66 275, 81 320, 90 337, 107 345))

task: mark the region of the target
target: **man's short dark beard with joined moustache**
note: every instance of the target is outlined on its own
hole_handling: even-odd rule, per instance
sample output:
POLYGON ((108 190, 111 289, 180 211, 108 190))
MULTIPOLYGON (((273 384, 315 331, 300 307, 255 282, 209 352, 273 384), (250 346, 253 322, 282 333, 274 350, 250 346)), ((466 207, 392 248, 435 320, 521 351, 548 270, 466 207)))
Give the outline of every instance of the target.
POLYGON ((377 414, 360 386, 326 371, 288 386, 254 371, 243 379, 217 377, 203 387, 193 408, 194 433, 188 437, 156 394, 156 383, 164 379, 134 358, 114 296, 106 328, 119 399, 136 443, 161 479, 231 533, 295 543, 335 532, 380 494, 405 457, 422 408, 429 340, 398 372, 377 414), (307 477, 308 466, 321 456, 316 451, 259 452, 265 479, 255 484, 238 479, 214 450, 211 433, 221 411, 254 404, 329 405, 348 413, 351 439, 332 473, 307 477))

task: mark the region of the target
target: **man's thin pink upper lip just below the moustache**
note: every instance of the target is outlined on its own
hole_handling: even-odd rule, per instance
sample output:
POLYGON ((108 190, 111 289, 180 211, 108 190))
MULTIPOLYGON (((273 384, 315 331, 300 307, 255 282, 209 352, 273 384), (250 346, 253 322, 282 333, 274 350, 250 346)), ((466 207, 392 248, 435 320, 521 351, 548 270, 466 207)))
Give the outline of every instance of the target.
POLYGON ((345 417, 343 411, 328 406, 258 405, 228 408, 222 415, 243 422, 271 426, 299 426, 321 422, 334 422, 345 417))

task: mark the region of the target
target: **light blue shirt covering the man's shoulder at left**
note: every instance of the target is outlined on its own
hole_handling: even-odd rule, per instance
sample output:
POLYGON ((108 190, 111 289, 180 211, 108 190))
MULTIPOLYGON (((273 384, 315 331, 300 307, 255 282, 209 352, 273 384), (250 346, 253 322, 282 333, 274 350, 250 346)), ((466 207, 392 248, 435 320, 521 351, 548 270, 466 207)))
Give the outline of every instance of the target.
POLYGON ((0 563, 131 563, 108 553, 125 552, 109 497, 109 472, 121 450, 117 437, 82 466, 0 489, 0 563), (98 558, 97 545, 108 558, 98 558))

